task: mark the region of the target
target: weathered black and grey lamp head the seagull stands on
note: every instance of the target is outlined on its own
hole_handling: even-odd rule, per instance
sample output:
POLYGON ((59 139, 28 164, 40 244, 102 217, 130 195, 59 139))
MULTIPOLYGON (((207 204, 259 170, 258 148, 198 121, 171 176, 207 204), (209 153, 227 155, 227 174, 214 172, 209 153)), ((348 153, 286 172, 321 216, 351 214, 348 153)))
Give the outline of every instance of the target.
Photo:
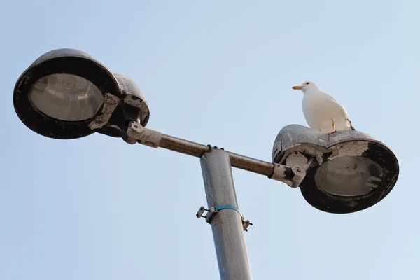
POLYGON ((274 141, 273 162, 300 162, 300 183, 309 204, 330 213, 351 213, 382 200, 398 179, 398 160, 391 149, 356 130, 326 134, 288 125, 274 141))

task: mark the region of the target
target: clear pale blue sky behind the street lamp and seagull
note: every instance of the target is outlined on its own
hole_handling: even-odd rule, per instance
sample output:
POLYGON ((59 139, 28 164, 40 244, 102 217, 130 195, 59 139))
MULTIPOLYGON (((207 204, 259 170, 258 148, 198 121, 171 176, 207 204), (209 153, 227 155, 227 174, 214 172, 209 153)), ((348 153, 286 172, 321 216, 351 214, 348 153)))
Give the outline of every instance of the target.
POLYGON ((199 159, 20 122, 15 81, 55 48, 136 80, 148 127, 261 160, 281 127, 306 125, 291 87, 318 83, 393 149, 400 179, 376 206, 335 215, 234 169, 254 279, 419 279, 420 1, 0 4, 0 279, 218 279, 211 228, 195 218, 199 159))

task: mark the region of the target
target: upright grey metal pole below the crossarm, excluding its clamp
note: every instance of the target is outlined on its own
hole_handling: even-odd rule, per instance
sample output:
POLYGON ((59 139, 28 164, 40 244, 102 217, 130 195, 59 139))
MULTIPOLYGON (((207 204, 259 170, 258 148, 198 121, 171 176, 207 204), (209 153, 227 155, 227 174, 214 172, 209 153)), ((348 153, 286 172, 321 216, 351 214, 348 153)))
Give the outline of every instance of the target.
MULTIPOLYGON (((229 154, 211 148, 202 155, 200 162, 209 209, 238 208, 229 154)), ((251 280, 241 215, 233 209, 221 209, 212 216, 210 223, 221 280, 251 280)))

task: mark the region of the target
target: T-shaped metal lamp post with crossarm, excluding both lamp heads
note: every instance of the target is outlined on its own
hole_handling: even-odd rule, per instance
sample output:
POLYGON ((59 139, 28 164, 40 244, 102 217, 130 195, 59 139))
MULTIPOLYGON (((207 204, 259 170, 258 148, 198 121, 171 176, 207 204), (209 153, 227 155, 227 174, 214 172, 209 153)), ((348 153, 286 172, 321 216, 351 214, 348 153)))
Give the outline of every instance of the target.
POLYGON ((209 209, 201 207, 197 218, 204 217, 211 224, 221 280, 251 280, 244 230, 252 224, 239 213, 232 167, 262 174, 293 187, 299 186, 304 179, 304 169, 248 158, 216 146, 172 137, 143 127, 137 122, 128 125, 125 141, 129 144, 166 148, 200 158, 209 209), (204 211, 207 214, 202 216, 204 211))

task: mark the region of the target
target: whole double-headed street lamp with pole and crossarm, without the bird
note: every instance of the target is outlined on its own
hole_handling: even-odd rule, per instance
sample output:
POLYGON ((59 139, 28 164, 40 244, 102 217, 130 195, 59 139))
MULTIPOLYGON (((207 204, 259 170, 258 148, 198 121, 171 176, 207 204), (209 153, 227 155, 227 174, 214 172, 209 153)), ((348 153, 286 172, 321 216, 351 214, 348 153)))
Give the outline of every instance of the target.
POLYGON ((351 213, 383 199, 398 179, 398 161, 381 142, 358 131, 325 134, 301 125, 283 127, 265 162, 146 128, 146 97, 130 78, 111 73, 85 52, 59 49, 41 55, 15 85, 13 104, 22 123, 55 139, 94 132, 200 158, 221 279, 252 279, 232 167, 300 187, 312 206, 351 213))

